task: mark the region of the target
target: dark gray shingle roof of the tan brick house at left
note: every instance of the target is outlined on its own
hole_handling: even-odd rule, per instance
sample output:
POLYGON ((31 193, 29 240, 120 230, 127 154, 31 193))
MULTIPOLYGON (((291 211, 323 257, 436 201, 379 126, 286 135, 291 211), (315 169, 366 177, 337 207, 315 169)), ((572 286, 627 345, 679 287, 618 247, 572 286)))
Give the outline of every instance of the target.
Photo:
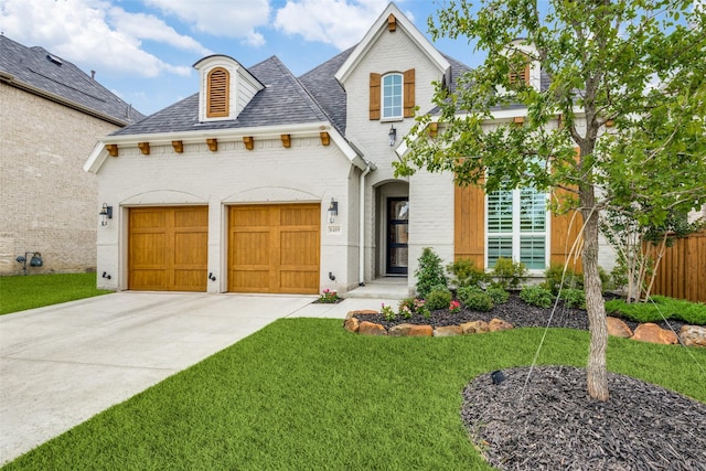
POLYGON ((145 118, 71 62, 43 47, 28 47, 4 35, 0 35, 0 73, 3 82, 29 85, 58 96, 98 115, 109 116, 116 124, 127 125, 145 118))

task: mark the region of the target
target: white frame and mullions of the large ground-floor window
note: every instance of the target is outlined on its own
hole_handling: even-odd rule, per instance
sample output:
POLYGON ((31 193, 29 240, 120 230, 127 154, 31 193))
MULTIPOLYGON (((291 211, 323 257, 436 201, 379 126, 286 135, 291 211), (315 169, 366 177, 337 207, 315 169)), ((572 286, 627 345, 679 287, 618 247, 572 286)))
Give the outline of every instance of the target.
POLYGON ((510 191, 512 193, 512 229, 511 231, 503 231, 503 232, 496 232, 496 233, 490 233, 489 231, 489 224, 490 224, 490 205, 489 205, 489 199, 490 199, 490 194, 485 194, 484 195, 484 227, 483 227, 483 233, 484 233, 484 237, 483 237, 483 243, 484 243, 484 267, 485 269, 490 270, 492 269, 492 267, 490 267, 489 264, 489 255, 490 255, 490 238, 492 237, 511 237, 512 240, 512 260, 513 261, 520 261, 521 260, 521 238, 523 236, 543 236, 544 237, 544 267, 543 268, 528 268, 528 272, 531 275, 542 275, 544 274, 544 271, 546 270, 546 267, 549 266, 549 260, 552 257, 552 217, 548 211, 548 204, 549 204, 549 197, 550 197, 550 193, 547 192, 539 192, 542 194, 544 194, 544 202, 545 202, 545 211, 544 211, 544 231, 537 231, 537 232, 522 232, 522 227, 521 227, 521 215, 522 215, 522 206, 521 206, 521 195, 522 195, 522 190, 526 190, 527 188, 515 188, 512 190, 500 190, 500 191, 510 191))

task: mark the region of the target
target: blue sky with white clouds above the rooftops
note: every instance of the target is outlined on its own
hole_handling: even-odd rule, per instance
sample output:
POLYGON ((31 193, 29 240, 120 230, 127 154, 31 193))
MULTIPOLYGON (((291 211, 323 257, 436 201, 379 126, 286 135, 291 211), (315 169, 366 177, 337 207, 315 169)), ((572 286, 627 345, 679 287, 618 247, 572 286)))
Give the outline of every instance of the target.
MULTIPOLYGON (((388 0, 0 0, 0 31, 73 62, 146 115, 197 89, 192 65, 277 55, 300 75, 355 45, 388 0)), ((427 34, 443 0, 397 0, 427 34)), ((429 36, 427 34, 427 36, 429 36)), ((477 65, 466 40, 435 44, 477 65)))

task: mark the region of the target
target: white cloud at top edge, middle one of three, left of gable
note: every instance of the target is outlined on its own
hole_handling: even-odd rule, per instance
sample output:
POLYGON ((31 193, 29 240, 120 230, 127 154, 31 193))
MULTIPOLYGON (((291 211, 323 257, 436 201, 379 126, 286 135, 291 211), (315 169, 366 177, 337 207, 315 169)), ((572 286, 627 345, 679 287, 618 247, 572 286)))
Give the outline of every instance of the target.
POLYGON ((267 25, 268 0, 146 0, 146 3, 192 24, 196 31, 240 39, 255 46, 265 44, 265 38, 255 29, 267 25))

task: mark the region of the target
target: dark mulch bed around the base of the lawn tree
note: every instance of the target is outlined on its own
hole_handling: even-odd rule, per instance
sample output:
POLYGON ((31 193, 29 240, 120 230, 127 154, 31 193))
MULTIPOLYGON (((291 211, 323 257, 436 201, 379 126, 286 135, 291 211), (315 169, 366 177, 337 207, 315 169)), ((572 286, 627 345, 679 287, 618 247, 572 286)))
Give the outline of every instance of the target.
POLYGON ((586 393, 568 366, 481 375, 463 390, 461 417, 501 470, 706 470, 706 404, 629 376, 608 374, 610 399, 586 393))

